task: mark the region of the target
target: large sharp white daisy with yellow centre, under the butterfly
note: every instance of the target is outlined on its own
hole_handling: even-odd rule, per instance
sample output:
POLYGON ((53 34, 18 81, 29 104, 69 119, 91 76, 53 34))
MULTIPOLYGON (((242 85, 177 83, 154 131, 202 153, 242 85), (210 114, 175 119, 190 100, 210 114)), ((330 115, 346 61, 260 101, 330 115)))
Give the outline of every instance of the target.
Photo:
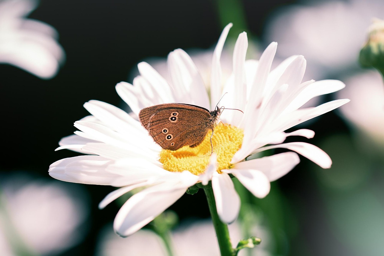
POLYGON ((181 49, 168 56, 170 83, 147 63, 139 63, 140 76, 133 85, 121 82, 116 90, 137 117, 142 108, 160 103, 187 103, 213 110, 221 103, 227 108, 212 137, 209 131, 195 148, 163 150, 135 118, 107 103, 92 100, 84 104, 91 116, 76 121, 80 131, 63 138, 61 147, 89 155, 56 161, 50 175, 63 181, 121 187, 100 203, 108 203, 134 188, 145 187, 121 207, 114 229, 129 236, 149 223, 179 199, 190 186, 212 181, 217 212, 225 223, 238 215, 240 199, 233 175, 255 196, 266 196, 270 181, 285 175, 300 161, 294 152, 244 161, 248 156, 272 148, 286 148, 309 158, 323 168, 331 159, 314 145, 304 142, 281 144, 287 136, 311 138, 314 132, 284 131, 301 122, 333 110, 349 100, 335 100, 315 108, 300 108, 311 98, 340 90, 336 80, 301 82, 306 61, 303 56, 288 58, 270 70, 277 43, 271 43, 259 61, 245 60, 247 34, 241 33, 233 53, 233 73, 223 90, 220 54, 232 24, 224 28, 212 58, 210 96, 189 55, 181 49), (266 146, 269 145, 269 146, 266 146), (216 166, 216 168, 214 167, 216 166), (206 171, 207 170, 207 171, 206 171))

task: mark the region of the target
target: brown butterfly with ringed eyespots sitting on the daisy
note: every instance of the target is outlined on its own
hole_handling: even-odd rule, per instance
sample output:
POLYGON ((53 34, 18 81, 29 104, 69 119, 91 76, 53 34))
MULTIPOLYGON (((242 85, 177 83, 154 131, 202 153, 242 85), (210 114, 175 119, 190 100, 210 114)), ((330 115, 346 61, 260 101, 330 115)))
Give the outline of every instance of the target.
POLYGON ((216 126, 222 109, 209 111, 200 106, 165 103, 143 108, 139 120, 162 148, 178 150, 182 146, 200 145, 209 130, 216 126))

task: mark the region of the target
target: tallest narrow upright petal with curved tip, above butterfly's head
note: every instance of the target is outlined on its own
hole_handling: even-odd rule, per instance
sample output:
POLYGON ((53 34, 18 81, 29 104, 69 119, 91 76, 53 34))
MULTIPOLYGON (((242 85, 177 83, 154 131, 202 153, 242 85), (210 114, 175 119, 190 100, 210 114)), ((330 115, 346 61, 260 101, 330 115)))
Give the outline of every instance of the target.
POLYGON ((220 65, 220 56, 224 47, 225 39, 227 38, 228 32, 232 27, 232 23, 229 23, 223 29, 223 32, 218 39, 217 45, 215 47, 213 56, 212 56, 212 67, 211 67, 211 110, 215 109, 216 104, 220 100, 221 95, 221 65, 220 65))

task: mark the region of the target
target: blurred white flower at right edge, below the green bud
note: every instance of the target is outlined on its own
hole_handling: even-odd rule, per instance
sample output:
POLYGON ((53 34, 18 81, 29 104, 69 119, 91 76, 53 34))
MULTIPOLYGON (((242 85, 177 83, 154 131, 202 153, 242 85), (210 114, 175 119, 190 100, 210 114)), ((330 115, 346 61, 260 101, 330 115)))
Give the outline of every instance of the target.
POLYGON ((366 71, 346 80, 339 97, 351 99, 340 108, 346 119, 376 143, 384 143, 384 85, 377 71, 366 71))

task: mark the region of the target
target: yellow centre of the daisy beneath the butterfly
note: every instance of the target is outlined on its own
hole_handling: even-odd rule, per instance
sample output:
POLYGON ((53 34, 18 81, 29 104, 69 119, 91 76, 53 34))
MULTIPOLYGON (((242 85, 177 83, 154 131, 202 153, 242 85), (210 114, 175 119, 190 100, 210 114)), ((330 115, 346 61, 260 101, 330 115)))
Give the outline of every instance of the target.
MULTIPOLYGON (((160 162, 167 171, 190 171, 194 175, 205 172, 210 161, 212 131, 208 131, 204 141, 195 148, 184 146, 178 150, 161 150, 160 162)), ((217 171, 230 168, 233 155, 243 143, 243 130, 235 126, 219 123, 212 136, 212 146, 217 155, 217 171)))

